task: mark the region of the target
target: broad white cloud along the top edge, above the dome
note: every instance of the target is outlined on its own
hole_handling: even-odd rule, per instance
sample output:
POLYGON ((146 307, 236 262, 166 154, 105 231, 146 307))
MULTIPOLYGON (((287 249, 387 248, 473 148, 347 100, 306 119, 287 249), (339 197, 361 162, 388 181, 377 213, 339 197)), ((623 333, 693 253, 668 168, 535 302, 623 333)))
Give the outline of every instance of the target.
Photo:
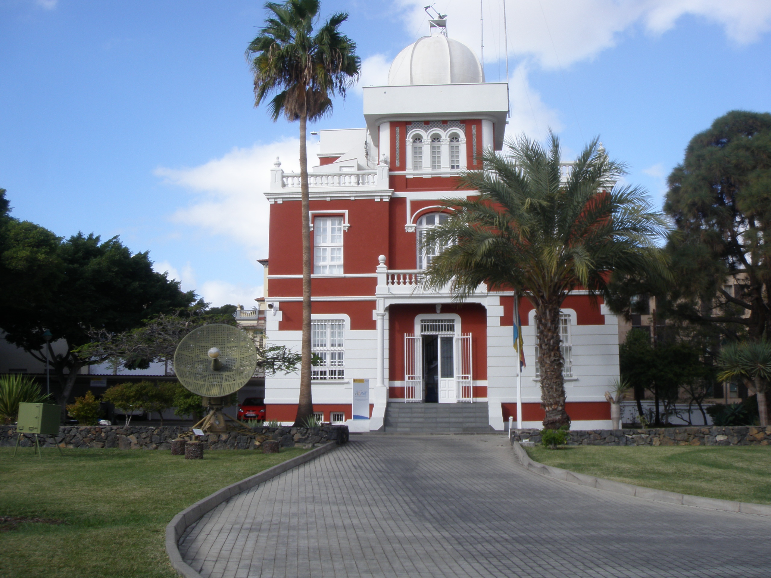
MULTIPOLYGON (((396 0, 407 29, 426 34, 425 2, 396 0)), ((508 0, 510 56, 534 59, 546 69, 592 59, 618 43, 621 33, 641 27, 653 35, 695 15, 721 25, 737 44, 754 42, 771 29, 771 2, 761 0, 508 0)), ((448 15, 449 35, 480 53, 480 5, 467 0, 436 2, 448 15)), ((503 0, 484 6, 486 62, 505 57, 503 0)))

